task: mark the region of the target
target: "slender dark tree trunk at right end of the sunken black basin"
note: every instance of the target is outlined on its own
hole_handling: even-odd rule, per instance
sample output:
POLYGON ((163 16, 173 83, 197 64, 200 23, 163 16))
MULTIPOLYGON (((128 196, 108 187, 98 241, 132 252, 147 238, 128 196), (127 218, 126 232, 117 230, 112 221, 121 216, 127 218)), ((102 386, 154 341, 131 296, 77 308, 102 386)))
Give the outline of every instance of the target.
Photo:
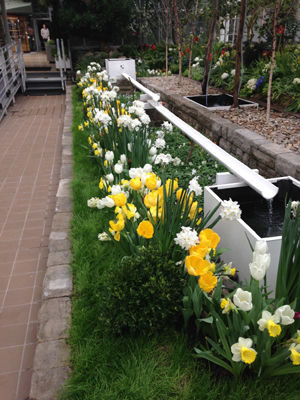
POLYGON ((239 31, 236 39, 236 60, 235 60, 235 77, 233 85, 233 104, 230 108, 239 107, 239 83, 241 73, 241 46, 243 43, 244 22, 246 18, 246 0, 241 0, 241 14, 239 22, 239 31))

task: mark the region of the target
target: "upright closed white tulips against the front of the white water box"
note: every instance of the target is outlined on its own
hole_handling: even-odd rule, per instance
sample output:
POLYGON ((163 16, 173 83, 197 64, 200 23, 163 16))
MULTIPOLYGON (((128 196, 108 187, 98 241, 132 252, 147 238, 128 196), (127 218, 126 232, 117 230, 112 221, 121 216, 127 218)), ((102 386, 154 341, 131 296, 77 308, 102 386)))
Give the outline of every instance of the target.
POLYGON ((259 240, 255 244, 253 252, 253 262, 249 264, 252 278, 260 281, 266 275, 271 263, 271 255, 268 253, 268 245, 264 240, 259 240))

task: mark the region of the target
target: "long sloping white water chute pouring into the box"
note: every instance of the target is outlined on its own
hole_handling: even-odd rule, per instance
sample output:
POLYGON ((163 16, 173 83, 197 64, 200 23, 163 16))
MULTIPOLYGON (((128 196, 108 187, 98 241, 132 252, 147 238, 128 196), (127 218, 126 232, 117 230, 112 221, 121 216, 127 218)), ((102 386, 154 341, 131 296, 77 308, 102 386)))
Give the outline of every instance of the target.
POLYGON ((225 150, 214 144, 211 140, 207 139, 204 135, 196 131, 196 129, 189 126, 187 123, 178 118, 171 111, 159 102, 160 95, 151 92, 136 80, 132 79, 128 74, 122 74, 124 78, 128 79, 139 90, 146 93, 151 99, 147 100, 153 108, 160 112, 166 119, 177 126, 184 132, 192 141, 206 150, 216 160, 223 164, 230 172, 239 177, 242 181, 246 182, 256 192, 258 192, 265 199, 272 199, 278 192, 278 187, 273 185, 270 181, 264 179, 262 176, 253 172, 245 164, 228 154, 225 150))

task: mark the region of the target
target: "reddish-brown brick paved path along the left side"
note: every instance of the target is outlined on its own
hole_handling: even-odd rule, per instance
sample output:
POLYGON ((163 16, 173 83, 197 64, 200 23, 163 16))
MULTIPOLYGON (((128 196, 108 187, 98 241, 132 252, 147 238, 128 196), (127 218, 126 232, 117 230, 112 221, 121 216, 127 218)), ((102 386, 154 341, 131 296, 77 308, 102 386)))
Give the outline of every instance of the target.
POLYGON ((29 396, 64 112, 65 96, 19 95, 0 123, 0 400, 29 396))

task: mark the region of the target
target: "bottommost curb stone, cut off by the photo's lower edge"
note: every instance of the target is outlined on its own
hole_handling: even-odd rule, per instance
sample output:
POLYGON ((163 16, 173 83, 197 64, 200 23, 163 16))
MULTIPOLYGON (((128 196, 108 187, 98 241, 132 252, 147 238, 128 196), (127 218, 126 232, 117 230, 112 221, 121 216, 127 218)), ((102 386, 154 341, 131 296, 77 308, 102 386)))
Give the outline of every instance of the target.
POLYGON ((57 400, 56 393, 65 384, 69 375, 68 367, 35 371, 31 380, 30 400, 57 400))

